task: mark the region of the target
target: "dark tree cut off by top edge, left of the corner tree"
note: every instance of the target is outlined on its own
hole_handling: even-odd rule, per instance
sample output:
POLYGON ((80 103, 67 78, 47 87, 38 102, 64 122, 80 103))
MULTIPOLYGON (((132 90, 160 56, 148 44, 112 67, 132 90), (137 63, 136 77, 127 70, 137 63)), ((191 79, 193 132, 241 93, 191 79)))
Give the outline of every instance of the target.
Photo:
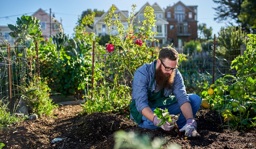
POLYGON ((238 15, 241 13, 241 4, 244 0, 213 0, 214 3, 219 4, 215 9, 217 12, 217 17, 214 20, 217 22, 228 21, 232 24, 232 20, 236 23, 240 23, 238 15))

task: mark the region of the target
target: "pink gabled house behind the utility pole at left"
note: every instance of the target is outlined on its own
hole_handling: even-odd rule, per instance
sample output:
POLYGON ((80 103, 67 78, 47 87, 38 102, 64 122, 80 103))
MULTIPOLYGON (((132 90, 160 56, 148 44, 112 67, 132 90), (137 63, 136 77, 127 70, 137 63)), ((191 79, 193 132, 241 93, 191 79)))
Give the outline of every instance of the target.
POLYGON ((39 24, 41 25, 42 37, 44 39, 49 38, 51 35, 55 35, 58 33, 59 25, 61 23, 59 23, 55 19, 54 14, 51 15, 51 22, 50 22, 50 15, 46 13, 44 10, 42 10, 41 8, 39 8, 31 16, 36 17, 38 20, 40 20, 39 24))

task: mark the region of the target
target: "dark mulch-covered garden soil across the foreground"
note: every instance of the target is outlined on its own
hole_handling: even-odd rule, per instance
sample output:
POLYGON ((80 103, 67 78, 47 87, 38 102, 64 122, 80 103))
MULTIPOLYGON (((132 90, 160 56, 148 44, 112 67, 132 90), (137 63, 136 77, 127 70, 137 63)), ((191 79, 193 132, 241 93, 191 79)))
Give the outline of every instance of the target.
MULTIPOLYGON (((163 149, 178 144, 180 148, 239 149, 255 148, 256 129, 244 132, 219 128, 223 120, 218 113, 200 108, 196 121, 199 136, 184 139, 174 130, 151 130, 136 127, 124 114, 93 113, 81 115, 80 105, 60 106, 54 111, 56 118, 42 118, 18 122, 11 129, 0 132, 0 143, 4 149, 112 149, 114 134, 118 130, 133 131, 139 136, 147 135, 151 140, 160 137, 165 140, 163 149), (52 143, 54 138, 61 141, 52 143)), ((142 149, 142 148, 141 148, 142 149)))

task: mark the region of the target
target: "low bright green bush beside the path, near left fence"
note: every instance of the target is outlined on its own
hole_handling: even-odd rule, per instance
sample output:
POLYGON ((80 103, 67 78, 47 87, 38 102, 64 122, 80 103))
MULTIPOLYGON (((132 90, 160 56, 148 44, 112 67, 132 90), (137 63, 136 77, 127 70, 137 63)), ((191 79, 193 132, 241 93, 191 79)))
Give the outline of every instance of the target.
POLYGON ((32 112, 36 113, 39 117, 53 116, 53 110, 59 107, 49 98, 50 91, 51 89, 48 87, 45 79, 41 80, 36 75, 26 88, 24 100, 28 103, 32 112))

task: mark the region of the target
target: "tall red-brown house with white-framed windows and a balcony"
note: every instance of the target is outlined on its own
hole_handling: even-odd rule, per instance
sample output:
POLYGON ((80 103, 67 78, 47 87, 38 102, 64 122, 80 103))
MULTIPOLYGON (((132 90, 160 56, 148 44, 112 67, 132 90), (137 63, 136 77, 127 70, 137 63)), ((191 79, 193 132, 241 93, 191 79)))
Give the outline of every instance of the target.
POLYGON ((169 22, 168 44, 173 43, 180 49, 185 42, 197 39, 197 5, 186 6, 179 1, 166 8, 165 16, 169 22))

